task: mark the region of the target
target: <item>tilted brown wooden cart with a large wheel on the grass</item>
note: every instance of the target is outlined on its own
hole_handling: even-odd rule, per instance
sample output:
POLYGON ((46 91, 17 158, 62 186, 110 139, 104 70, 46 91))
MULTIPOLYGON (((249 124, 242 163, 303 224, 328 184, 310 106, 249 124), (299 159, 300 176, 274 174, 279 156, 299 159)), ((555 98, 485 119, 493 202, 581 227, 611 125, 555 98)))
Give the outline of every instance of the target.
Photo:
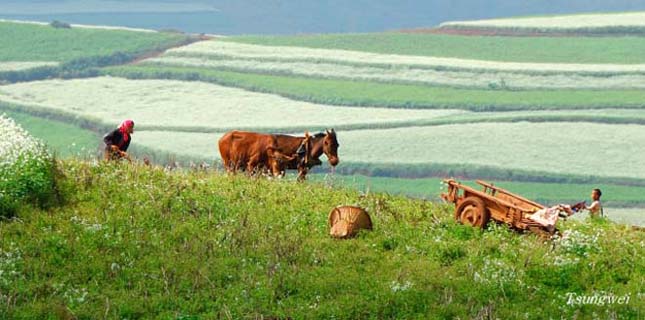
POLYGON ((490 183, 477 180, 482 191, 465 186, 453 179, 444 180, 448 191, 441 197, 455 204, 455 219, 463 224, 484 228, 492 219, 516 230, 529 230, 540 235, 552 235, 556 230, 527 218, 545 206, 490 183))

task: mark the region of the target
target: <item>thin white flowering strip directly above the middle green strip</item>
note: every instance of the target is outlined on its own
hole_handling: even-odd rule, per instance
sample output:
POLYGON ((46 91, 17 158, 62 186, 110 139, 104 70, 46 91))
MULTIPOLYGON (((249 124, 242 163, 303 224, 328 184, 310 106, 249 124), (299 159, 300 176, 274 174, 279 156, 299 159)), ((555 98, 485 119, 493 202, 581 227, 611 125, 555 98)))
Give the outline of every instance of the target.
POLYGON ((511 89, 634 89, 645 88, 645 74, 598 76, 577 73, 527 74, 518 72, 475 72, 435 70, 405 65, 360 66, 326 62, 263 61, 215 56, 173 56, 152 58, 146 65, 204 67, 246 73, 284 74, 386 83, 415 83, 456 87, 511 89))

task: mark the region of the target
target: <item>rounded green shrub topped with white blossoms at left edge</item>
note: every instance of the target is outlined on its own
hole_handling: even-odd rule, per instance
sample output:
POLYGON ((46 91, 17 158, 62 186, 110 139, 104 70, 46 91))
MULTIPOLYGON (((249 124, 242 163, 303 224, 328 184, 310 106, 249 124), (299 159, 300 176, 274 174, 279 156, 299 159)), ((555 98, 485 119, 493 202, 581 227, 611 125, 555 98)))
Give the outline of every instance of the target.
POLYGON ((55 161, 45 145, 5 115, 0 115, 0 136, 0 216, 13 215, 21 202, 50 204, 55 161))

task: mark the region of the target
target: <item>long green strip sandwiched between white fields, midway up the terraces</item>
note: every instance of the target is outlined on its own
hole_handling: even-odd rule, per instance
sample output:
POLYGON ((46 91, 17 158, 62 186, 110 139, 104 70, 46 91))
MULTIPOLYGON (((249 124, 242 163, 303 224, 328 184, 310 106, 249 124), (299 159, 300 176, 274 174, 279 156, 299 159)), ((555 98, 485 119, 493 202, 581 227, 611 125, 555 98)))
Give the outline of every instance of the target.
POLYGON ((643 90, 475 90, 324 80, 203 68, 118 66, 103 74, 130 79, 206 81, 323 104, 473 111, 643 108, 643 90))

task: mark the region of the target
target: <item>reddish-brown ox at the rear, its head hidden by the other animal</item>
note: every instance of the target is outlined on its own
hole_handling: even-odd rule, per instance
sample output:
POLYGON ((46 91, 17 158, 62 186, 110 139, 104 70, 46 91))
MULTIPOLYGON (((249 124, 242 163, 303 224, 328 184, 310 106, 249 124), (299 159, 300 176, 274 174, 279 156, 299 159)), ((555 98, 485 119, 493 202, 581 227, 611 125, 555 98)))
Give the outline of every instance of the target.
POLYGON ((280 163, 295 158, 278 149, 277 139, 270 134, 229 131, 219 139, 219 153, 227 172, 247 171, 249 175, 268 168, 280 175, 280 163))

